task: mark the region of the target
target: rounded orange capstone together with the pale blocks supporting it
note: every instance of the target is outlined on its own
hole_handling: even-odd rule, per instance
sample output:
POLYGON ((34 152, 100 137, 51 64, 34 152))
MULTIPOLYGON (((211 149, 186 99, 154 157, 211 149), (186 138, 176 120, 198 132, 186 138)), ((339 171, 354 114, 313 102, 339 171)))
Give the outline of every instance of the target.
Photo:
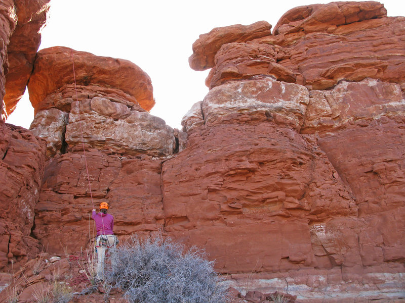
POLYGON ((173 129, 147 113, 154 105, 149 76, 130 61, 43 49, 28 90, 36 114, 30 128, 46 138, 48 156, 82 143, 131 156, 168 156, 176 147, 173 129))

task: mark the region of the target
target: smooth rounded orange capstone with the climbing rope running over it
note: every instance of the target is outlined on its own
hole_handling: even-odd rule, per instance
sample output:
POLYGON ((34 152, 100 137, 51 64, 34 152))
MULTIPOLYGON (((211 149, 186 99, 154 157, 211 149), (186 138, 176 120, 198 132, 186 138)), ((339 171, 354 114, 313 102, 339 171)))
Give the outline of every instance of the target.
POLYGON ((73 62, 77 85, 117 88, 133 96, 146 111, 153 107, 151 80, 137 65, 128 60, 98 57, 55 46, 41 49, 36 55, 28 83, 30 101, 35 111, 48 95, 65 84, 74 83, 73 62))

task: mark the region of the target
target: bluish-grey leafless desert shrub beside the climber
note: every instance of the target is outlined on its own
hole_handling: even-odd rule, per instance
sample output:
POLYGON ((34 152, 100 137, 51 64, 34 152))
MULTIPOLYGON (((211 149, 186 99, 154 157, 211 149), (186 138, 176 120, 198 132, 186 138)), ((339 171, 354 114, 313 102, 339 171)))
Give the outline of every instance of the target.
POLYGON ((107 279, 125 291, 131 303, 223 303, 226 294, 213 262, 203 251, 184 250, 157 237, 129 242, 113 249, 107 279))

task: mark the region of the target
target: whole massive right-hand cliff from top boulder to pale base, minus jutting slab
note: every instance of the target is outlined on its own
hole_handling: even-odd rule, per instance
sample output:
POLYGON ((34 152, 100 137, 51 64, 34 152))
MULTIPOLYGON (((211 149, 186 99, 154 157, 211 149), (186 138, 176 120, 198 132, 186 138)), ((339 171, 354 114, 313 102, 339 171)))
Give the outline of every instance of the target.
POLYGON ((230 286, 255 272, 259 290, 300 301, 341 301, 332 285, 402 296, 404 22, 376 2, 305 6, 273 35, 218 49, 211 91, 182 121, 186 148, 164 163, 164 211, 230 286))

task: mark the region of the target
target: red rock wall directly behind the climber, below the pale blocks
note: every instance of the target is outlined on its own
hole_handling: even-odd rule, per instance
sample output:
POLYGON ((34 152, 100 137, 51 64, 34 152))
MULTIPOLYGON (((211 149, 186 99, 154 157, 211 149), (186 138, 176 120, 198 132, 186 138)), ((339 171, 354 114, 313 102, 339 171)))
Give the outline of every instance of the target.
POLYGON ((121 240, 157 232, 163 226, 160 167, 157 160, 124 159, 96 149, 88 150, 86 159, 80 150, 49 159, 33 234, 54 252, 90 247, 95 237, 91 210, 103 201, 110 205, 121 240))

